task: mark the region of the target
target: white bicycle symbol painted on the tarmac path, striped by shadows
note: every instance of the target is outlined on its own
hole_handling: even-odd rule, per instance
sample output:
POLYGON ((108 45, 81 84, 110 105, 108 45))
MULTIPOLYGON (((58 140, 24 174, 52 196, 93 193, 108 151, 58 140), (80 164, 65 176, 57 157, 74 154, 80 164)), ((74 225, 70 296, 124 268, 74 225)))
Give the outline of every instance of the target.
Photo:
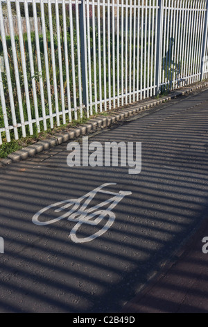
POLYGON ((103 184, 78 199, 64 200, 61 202, 57 202, 54 205, 49 205, 48 207, 41 209, 40 212, 37 212, 37 214, 33 216, 33 223, 35 223, 35 225, 42 226, 50 225, 52 223, 60 221, 61 219, 67 218, 68 221, 76 222, 76 225, 72 228, 69 235, 71 241, 75 243, 85 243, 92 241, 93 239, 96 239, 96 237, 100 237, 102 234, 107 232, 107 230, 112 226, 116 218, 114 212, 112 212, 112 209, 114 209, 114 207, 116 207, 116 205, 118 205, 118 203, 125 196, 129 196, 130 194, 132 194, 132 192, 129 191, 119 191, 119 193, 114 193, 104 190, 106 186, 110 185, 116 185, 116 183, 103 184), (92 202, 97 193, 108 194, 112 197, 108 200, 101 202, 98 205, 89 207, 90 202, 92 202), (108 206, 107 209, 106 206, 108 206), (103 207, 105 207, 105 209, 103 207), (49 212, 51 209, 53 209, 55 213, 64 213, 62 213, 57 218, 53 218, 49 221, 40 221, 41 216, 44 216, 44 214, 46 214, 46 212, 49 212), (106 222, 101 228, 101 230, 90 235, 89 237, 77 237, 77 233, 83 224, 95 226, 101 223, 104 219, 106 222))

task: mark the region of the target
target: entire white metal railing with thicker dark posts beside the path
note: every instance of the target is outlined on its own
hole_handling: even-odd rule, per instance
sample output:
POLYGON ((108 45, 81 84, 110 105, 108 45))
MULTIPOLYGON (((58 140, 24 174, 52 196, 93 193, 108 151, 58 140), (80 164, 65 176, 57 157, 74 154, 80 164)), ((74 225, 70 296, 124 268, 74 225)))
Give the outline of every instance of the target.
POLYGON ((0 144, 207 78, 207 8, 0 0, 0 144))

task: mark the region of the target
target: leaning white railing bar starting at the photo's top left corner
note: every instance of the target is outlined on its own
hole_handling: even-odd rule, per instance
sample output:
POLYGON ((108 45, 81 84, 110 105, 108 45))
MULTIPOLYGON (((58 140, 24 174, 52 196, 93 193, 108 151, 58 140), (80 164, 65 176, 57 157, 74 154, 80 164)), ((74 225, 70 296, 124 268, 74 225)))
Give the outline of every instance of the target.
POLYGON ((11 75, 10 75, 10 65, 8 61, 8 49, 6 44, 6 33, 4 29, 3 24, 3 13, 2 13, 2 6, 0 1, 0 31, 1 31, 1 42, 3 46, 3 58, 4 58, 4 65, 6 70, 6 77, 7 77, 7 84, 8 84, 8 94, 10 99, 10 109, 12 114, 12 124, 14 127, 14 134, 15 134, 15 140, 18 140, 18 131, 17 131, 17 119, 16 119, 16 113, 15 113, 15 103, 14 103, 14 96, 12 91, 12 81, 11 81, 11 75))

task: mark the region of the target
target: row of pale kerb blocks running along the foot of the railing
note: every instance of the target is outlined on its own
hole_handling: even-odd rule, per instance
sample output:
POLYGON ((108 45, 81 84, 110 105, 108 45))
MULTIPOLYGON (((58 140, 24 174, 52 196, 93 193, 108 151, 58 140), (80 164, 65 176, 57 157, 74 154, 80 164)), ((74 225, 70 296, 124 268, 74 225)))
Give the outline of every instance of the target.
POLYGON ((98 116, 92 118, 85 124, 82 124, 78 127, 70 128, 64 131, 61 131, 60 134, 55 134, 51 138, 46 138, 44 141, 39 141, 33 145, 28 145, 21 150, 17 150, 8 155, 6 159, 0 160, 0 166, 6 166, 12 162, 21 161, 27 159, 28 157, 33 157, 35 154, 40 153, 44 150, 49 150, 51 147, 60 145, 64 142, 77 138, 81 135, 86 135, 89 131, 94 131, 96 128, 105 128, 118 120, 123 118, 128 118, 131 115, 136 115, 139 112, 146 111, 153 106, 157 106, 171 99, 175 99, 180 95, 186 95, 200 88, 205 88, 208 86, 208 82, 201 83, 197 86, 192 86, 191 88, 184 88, 183 90, 176 90, 169 95, 160 97, 159 99, 147 99, 142 103, 132 104, 132 108, 119 108, 116 111, 108 112, 107 116, 98 116))

